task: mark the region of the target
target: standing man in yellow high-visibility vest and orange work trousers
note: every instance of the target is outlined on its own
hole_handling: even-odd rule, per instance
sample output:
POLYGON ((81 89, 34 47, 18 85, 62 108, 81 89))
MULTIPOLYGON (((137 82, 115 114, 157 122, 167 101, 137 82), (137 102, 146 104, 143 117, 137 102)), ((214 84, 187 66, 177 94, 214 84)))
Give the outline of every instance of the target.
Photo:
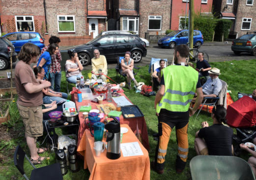
POLYGON ((158 143, 155 161, 151 167, 158 173, 164 173, 165 156, 171 130, 175 126, 178 153, 176 158, 176 172, 181 173, 188 158, 188 122, 198 109, 203 99, 202 88, 198 72, 187 65, 189 55, 187 45, 178 45, 174 49, 174 64, 162 70, 161 88, 155 98, 156 115, 158 116, 158 143), (195 106, 190 102, 197 92, 195 106))

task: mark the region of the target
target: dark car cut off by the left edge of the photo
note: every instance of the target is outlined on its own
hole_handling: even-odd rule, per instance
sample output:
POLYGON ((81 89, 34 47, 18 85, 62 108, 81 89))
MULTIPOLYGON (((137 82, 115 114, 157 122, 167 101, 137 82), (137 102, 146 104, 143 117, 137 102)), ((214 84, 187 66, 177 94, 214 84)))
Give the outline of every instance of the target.
POLYGON ((12 63, 16 62, 17 53, 12 43, 3 37, 0 37, 0 70, 7 69, 10 66, 10 57, 12 52, 12 63))

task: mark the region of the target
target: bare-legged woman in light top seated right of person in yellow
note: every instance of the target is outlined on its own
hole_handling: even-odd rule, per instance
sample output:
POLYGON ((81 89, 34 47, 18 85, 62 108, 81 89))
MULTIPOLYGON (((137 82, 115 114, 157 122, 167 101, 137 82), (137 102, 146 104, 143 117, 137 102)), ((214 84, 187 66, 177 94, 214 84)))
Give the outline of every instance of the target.
POLYGON ((136 81, 134 75, 133 75, 133 67, 134 67, 134 61, 131 57, 130 52, 125 52, 124 59, 121 60, 121 74, 126 74, 127 77, 127 87, 129 90, 132 89, 131 87, 131 79, 134 81, 134 85, 137 87, 139 84, 136 81))

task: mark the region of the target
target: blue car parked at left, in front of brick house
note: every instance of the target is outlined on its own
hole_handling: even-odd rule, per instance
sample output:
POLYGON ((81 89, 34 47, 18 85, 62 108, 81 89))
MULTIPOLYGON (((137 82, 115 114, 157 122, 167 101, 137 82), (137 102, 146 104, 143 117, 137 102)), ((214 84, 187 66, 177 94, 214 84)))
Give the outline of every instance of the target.
POLYGON ((3 35, 7 38, 15 47, 15 51, 18 53, 21 47, 26 43, 32 43, 40 48, 40 51, 45 46, 44 38, 38 32, 10 32, 3 35))

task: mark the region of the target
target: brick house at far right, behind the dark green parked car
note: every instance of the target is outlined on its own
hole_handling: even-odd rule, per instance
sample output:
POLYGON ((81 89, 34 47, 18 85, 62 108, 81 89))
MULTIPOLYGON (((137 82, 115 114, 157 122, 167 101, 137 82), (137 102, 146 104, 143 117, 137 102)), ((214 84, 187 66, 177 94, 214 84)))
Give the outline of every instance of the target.
POLYGON ((233 22, 229 31, 230 39, 256 31, 255 0, 213 0, 213 11, 219 18, 233 22))

